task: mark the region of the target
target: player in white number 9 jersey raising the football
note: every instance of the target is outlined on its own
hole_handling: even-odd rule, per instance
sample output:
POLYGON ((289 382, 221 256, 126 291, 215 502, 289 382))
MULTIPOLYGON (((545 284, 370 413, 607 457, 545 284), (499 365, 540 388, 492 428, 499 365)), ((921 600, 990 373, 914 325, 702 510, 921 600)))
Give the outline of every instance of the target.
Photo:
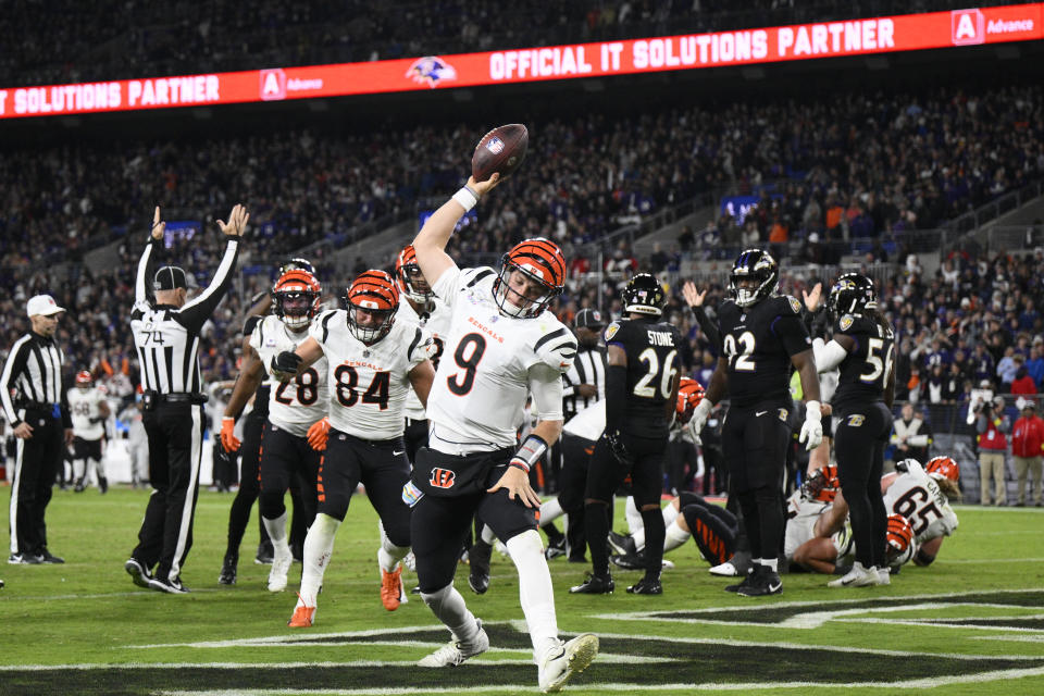
POLYGON ((529 470, 562 432, 562 374, 576 355, 570 331, 547 311, 563 289, 566 260, 556 244, 526 239, 489 268, 457 268, 446 244, 461 216, 499 181, 494 174, 444 203, 413 240, 432 289, 452 313, 427 402, 428 447, 418 452, 412 486, 412 539, 421 596, 452 633, 421 667, 451 667, 489 648, 482 623, 453 587, 472 518, 489 525, 519 571, 519 594, 533 642, 538 683, 558 691, 598 652, 586 633, 558 637, 551 576, 536 512, 540 499, 529 470), (532 395, 539 422, 521 446, 517 424, 532 395))

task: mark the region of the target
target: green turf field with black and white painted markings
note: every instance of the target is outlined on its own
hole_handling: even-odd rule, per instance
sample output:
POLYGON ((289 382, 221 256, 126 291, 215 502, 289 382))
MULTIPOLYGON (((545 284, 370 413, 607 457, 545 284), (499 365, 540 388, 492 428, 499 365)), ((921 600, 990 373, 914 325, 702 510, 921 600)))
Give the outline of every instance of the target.
MULTIPOLYGON (((10 489, 0 489, 7 502, 10 489)), ((55 490, 51 550, 64 566, 3 566, 0 694, 513 694, 536 693, 536 667, 511 561, 494 552, 493 584, 458 588, 492 649, 448 670, 414 663, 449 634, 418 597, 395 612, 378 597, 376 517, 357 498, 341 526, 315 626, 290 630, 296 588, 270 594, 268 567, 243 548, 239 582, 217 584, 232 495, 202 493, 183 581, 189 595, 139 589, 123 570, 147 494, 55 490)), ((257 514, 257 512, 254 512, 257 514)), ((1044 694, 1044 511, 959 507, 960 527, 931 568, 890 587, 828 589, 784 577, 784 593, 722 592, 689 544, 670 556, 661 597, 570 596, 583 566, 551 561, 562 634, 601 638, 568 693, 1044 694)), ((622 512, 617 527, 623 524, 622 512)), ((4 529, 4 532, 7 530, 4 529)), ((406 575, 412 586, 414 576, 406 575)))

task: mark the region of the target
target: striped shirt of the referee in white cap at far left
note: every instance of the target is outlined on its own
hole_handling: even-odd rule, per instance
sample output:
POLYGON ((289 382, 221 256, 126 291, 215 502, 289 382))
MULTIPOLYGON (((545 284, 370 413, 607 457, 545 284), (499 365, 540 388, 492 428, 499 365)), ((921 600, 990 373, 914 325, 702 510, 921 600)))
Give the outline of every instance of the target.
POLYGON ((27 403, 59 405, 63 421, 69 421, 69 406, 62 385, 62 362, 65 352, 52 338, 29 332, 11 347, 0 376, 0 402, 3 415, 12 426, 22 420, 20 410, 27 403), (12 397, 12 391, 14 396, 12 397))

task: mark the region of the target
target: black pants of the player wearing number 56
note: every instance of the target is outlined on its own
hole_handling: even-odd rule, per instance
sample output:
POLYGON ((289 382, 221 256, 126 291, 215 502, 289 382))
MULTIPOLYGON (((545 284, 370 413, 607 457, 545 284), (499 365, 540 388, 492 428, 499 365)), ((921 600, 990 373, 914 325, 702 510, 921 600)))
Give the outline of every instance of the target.
POLYGON ((884 568, 888 518, 881 495, 884 448, 892 434, 892 412, 881 401, 837 414, 834 452, 841 492, 848 504, 856 560, 884 568))

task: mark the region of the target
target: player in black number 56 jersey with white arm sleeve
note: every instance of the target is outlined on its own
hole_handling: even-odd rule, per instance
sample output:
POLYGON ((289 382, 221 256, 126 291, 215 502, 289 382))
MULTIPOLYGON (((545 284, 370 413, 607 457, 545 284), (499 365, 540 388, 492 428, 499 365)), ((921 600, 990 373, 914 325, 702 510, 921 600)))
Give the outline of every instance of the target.
POLYGON ((816 339, 816 364, 820 372, 841 368, 832 403, 837 419, 834 452, 856 542, 852 572, 828 585, 886 585, 891 581, 884 558, 888 519, 881 473, 892 433, 895 336, 888 320, 878 311, 873 281, 858 273, 837 278, 826 310, 834 322, 834 336, 825 345, 816 339))

